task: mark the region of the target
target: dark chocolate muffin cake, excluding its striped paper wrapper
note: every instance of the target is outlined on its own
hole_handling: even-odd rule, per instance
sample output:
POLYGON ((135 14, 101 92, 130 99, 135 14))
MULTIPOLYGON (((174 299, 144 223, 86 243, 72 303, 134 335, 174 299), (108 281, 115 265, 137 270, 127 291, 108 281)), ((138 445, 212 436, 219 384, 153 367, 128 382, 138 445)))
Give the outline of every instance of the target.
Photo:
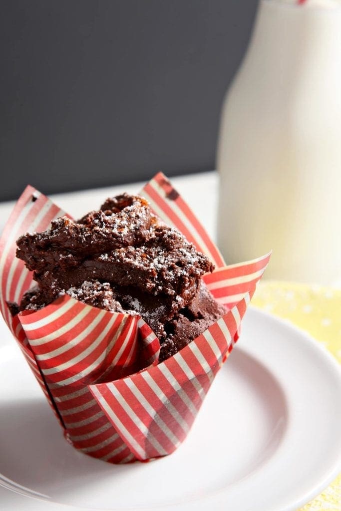
POLYGON ((226 309, 201 280, 213 264, 137 195, 107 199, 78 221, 61 217, 17 240, 16 255, 37 285, 12 314, 60 294, 111 312, 141 316, 161 344, 160 361, 206 330, 226 309))

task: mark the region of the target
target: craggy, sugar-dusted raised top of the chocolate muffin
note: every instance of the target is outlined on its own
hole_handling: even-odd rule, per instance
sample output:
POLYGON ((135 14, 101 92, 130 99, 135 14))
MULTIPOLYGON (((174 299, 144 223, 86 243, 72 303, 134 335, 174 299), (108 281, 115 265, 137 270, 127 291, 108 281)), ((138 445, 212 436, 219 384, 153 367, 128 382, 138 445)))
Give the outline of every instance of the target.
POLYGON ((127 194, 107 199, 81 220, 58 218, 43 233, 21 236, 17 246, 17 257, 54 297, 99 280, 176 296, 182 307, 196 294, 201 275, 214 269, 177 229, 152 214, 145 199, 127 194))

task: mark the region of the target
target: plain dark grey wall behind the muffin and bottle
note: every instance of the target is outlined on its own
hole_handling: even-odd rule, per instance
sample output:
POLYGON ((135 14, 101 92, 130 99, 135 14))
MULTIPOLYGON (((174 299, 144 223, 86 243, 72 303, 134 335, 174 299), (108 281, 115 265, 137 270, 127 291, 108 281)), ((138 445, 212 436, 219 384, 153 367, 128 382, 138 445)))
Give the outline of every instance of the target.
POLYGON ((257 0, 2 0, 0 200, 214 168, 257 0))

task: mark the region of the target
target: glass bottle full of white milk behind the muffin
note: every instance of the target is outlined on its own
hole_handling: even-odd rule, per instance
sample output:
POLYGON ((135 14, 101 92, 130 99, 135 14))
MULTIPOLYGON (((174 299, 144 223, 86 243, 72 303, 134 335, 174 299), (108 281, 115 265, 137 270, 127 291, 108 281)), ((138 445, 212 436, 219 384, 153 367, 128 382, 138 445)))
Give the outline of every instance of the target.
POLYGON ((267 278, 341 278, 341 3, 261 0, 218 142, 226 262, 271 248, 267 278))

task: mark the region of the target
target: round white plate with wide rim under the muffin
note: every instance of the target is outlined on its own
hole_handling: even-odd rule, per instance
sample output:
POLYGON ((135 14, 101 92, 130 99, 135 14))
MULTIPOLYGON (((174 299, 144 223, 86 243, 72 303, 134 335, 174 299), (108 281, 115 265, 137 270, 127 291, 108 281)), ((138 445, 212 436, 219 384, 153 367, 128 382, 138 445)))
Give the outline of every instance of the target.
POLYGON ((341 471, 337 363, 303 332, 255 309, 184 444, 126 466, 66 443, 3 324, 0 334, 3 511, 289 511, 341 471))

